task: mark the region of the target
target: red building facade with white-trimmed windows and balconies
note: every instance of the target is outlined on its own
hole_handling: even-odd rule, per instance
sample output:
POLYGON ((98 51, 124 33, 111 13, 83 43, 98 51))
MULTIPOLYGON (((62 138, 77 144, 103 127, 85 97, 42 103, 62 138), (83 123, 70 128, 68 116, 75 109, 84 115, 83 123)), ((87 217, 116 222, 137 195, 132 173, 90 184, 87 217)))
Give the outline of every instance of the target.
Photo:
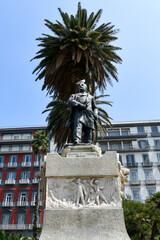
MULTIPOLYGON (((0 129, 0 229, 23 234, 32 229, 39 162, 31 141, 36 131, 45 128, 0 129)), ((38 221, 43 223, 42 201, 38 221)))

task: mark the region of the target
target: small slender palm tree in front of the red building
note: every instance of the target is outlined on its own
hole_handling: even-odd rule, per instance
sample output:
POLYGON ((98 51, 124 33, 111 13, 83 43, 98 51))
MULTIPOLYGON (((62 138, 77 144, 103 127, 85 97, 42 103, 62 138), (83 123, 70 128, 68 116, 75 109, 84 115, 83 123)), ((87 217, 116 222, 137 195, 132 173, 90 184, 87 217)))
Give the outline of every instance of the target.
MULTIPOLYGON (((46 132, 40 130, 33 135, 32 148, 34 154, 38 155, 39 161, 39 171, 41 171, 41 159, 42 156, 48 152, 49 140, 46 136, 46 132)), ((34 216, 34 227, 33 227, 33 237, 37 237, 37 227, 38 227, 38 211, 39 211, 39 201, 40 201, 40 178, 38 178, 38 189, 37 189, 37 198, 36 198, 36 209, 34 216)))

